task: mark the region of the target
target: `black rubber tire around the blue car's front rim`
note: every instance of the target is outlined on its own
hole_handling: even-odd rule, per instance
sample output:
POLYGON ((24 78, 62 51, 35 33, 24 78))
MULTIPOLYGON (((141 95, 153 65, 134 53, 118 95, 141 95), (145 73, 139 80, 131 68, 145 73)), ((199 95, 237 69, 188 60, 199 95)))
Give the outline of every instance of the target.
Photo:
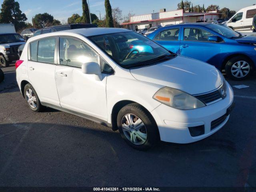
MULTIPOLYGON (((241 63, 241 64, 243 64, 241 63)), ((237 66, 236 66, 237 67, 237 66)), ((252 73, 252 70, 253 70, 253 64, 252 64, 252 61, 250 61, 248 58, 246 57, 243 57, 243 56, 236 56, 236 57, 233 57, 231 58, 227 63, 226 63, 226 66, 225 66, 225 71, 226 71, 226 74, 229 78, 232 78, 233 80, 244 80, 246 78, 248 78, 250 76, 250 74, 252 73), (237 62, 247 62, 249 64, 249 68, 247 69, 242 69, 242 74, 244 76, 241 76, 241 74, 239 73, 238 76, 236 77, 235 75, 236 74, 233 74, 232 73, 232 70, 235 70, 236 68, 234 68, 237 64, 237 62)), ((234 72, 235 73, 235 72, 234 72)))

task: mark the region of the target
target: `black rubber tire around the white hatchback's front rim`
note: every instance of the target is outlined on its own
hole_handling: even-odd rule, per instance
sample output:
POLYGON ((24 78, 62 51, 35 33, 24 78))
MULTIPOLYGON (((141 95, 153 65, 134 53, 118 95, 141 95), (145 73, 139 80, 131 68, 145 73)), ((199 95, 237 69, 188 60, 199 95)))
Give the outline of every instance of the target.
MULTIPOLYGON (((126 121, 126 123, 127 123, 127 121, 126 121)), ((144 109, 142 106, 140 106, 137 103, 128 104, 128 105, 124 106, 123 108, 121 108, 121 110, 118 112, 118 116, 117 116, 117 126, 118 126, 119 132, 121 134, 121 137, 126 141, 126 143, 128 145, 130 145, 131 147, 133 147, 137 150, 148 150, 149 148, 154 146, 160 140, 158 127, 157 127, 154 119, 152 118, 152 116, 146 109, 144 109), (124 134, 124 131, 122 129, 122 123, 124 123, 124 121, 126 121, 125 116, 127 114, 132 114, 132 116, 134 118, 135 117, 140 118, 142 120, 142 122, 144 123, 145 126, 140 127, 139 130, 133 129, 133 132, 127 131, 128 134, 130 134, 130 135, 134 133, 134 135, 135 135, 134 138, 136 139, 136 142, 144 142, 144 143, 134 144, 124 134), (138 132, 140 132, 140 133, 146 132, 146 134, 147 134, 146 141, 142 141, 140 138, 138 138, 138 136, 136 136, 136 134, 138 135, 138 132)), ((131 136, 130 136, 130 138, 131 138, 131 136)))

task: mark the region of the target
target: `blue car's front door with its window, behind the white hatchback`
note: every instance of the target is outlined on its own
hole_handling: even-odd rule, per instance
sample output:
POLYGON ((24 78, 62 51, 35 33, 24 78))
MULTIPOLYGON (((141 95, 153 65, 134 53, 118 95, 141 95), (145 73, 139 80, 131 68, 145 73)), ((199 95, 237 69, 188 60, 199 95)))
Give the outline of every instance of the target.
POLYGON ((207 30, 199 27, 182 27, 180 54, 209 64, 218 63, 221 52, 220 43, 210 42, 208 36, 214 36, 207 30))

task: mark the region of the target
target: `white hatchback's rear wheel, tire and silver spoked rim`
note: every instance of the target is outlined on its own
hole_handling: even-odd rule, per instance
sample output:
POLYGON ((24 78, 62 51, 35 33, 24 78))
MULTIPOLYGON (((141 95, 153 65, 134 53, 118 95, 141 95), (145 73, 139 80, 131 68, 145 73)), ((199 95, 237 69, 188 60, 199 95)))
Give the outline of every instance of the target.
POLYGON ((25 85, 24 96, 31 110, 35 112, 39 112, 40 110, 42 110, 41 102, 31 84, 25 85))

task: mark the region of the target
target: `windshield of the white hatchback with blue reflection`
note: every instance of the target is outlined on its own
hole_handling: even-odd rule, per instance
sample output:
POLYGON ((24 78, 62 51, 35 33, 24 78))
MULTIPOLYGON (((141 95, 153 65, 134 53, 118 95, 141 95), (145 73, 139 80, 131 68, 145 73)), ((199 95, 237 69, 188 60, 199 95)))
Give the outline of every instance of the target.
POLYGON ((124 68, 152 65, 176 56, 136 32, 104 34, 89 38, 124 68))

